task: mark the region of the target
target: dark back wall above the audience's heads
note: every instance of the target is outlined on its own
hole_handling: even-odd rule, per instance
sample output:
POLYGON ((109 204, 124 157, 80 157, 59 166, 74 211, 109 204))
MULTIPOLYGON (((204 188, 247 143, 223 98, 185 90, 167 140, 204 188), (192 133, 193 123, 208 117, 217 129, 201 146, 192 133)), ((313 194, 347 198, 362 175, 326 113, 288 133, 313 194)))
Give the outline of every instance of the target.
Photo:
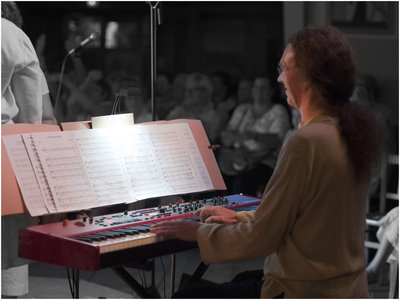
MULTIPOLYGON (((153 2, 154 3, 154 2, 153 2)), ((93 16, 101 23, 100 45, 87 47, 82 59, 88 69, 105 73, 125 70, 150 82, 150 5, 148 2, 18 2, 23 30, 33 43, 45 33, 45 57, 50 72, 59 72, 65 55, 68 21, 93 16), (128 22, 137 29, 132 45, 105 48, 108 21, 128 22)), ((282 2, 162 2, 157 26, 157 72, 228 72, 242 76, 276 76, 282 54, 282 2)))

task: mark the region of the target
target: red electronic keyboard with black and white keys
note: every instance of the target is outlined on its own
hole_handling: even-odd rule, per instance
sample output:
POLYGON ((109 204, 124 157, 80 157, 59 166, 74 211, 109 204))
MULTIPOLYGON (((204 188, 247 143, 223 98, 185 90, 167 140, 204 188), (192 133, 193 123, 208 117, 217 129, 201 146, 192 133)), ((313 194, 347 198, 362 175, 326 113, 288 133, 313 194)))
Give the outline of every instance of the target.
POLYGON ((183 218, 199 221, 194 212, 205 205, 238 210, 259 203, 259 198, 231 195, 32 226, 20 231, 20 256, 88 271, 145 260, 197 247, 150 233, 151 225, 183 218))

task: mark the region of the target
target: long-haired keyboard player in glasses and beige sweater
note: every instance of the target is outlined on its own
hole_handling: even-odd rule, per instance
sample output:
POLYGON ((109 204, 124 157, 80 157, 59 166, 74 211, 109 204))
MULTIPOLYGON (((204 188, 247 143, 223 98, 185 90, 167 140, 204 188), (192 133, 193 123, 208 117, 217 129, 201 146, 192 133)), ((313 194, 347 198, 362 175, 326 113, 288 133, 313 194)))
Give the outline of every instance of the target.
MULTIPOLYGON (((368 298, 366 199, 381 132, 372 114, 349 101, 351 47, 332 27, 303 29, 289 40, 279 71, 302 123, 283 145, 260 206, 205 207, 197 212, 205 224, 163 222, 151 231, 197 241, 205 263, 267 257, 251 295, 368 298)), ((188 287, 177 297, 245 297, 237 286, 188 287)))

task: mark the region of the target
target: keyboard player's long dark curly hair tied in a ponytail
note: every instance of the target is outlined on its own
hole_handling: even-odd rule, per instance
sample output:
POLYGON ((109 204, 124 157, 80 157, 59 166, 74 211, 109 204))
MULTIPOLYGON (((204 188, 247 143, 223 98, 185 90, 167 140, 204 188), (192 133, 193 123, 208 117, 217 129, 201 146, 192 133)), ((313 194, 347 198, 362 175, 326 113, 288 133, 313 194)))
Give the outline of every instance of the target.
POLYGON ((349 101, 356 78, 349 42, 338 29, 327 26, 303 29, 289 43, 296 65, 322 95, 321 105, 338 117, 357 179, 368 179, 380 159, 384 130, 371 112, 349 101))

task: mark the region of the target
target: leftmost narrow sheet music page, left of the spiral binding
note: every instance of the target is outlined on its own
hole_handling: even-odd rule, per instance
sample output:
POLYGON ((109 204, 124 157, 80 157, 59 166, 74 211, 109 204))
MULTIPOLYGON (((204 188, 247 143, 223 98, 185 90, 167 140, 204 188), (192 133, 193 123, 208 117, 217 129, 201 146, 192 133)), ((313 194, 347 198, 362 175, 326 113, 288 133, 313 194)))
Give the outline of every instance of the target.
MULTIPOLYGON (((22 197, 25 200, 31 216, 47 214, 48 210, 44 202, 43 194, 37 182, 31 162, 22 137, 20 135, 3 136, 3 143, 8 152, 11 165, 14 169, 22 197)), ((54 203, 53 203, 54 204, 54 203)), ((55 211, 54 205, 52 206, 55 211)))

